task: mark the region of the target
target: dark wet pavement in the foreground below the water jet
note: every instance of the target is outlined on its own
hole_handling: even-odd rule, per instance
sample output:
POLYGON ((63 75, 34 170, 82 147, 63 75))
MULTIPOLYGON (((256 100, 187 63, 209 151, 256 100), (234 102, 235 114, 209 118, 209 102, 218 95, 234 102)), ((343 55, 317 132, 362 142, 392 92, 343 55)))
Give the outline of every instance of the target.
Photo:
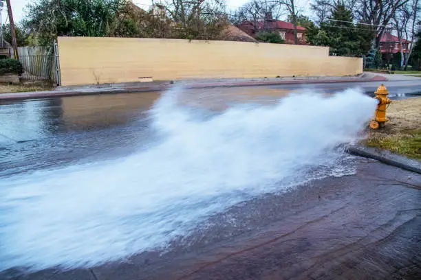
POLYGON ((217 226, 169 253, 65 272, 9 270, 0 279, 420 279, 421 176, 358 161, 356 175, 215 215, 217 226), (241 223, 233 226, 227 216, 241 223))

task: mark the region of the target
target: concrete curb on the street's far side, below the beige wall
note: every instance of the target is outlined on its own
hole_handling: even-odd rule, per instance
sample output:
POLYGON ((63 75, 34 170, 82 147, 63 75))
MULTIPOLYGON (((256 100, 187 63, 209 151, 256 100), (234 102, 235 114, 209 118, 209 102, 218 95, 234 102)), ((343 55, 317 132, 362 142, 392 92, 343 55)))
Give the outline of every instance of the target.
MULTIPOLYGON (((386 80, 386 79, 385 79, 386 80)), ((46 97, 66 97, 76 95, 97 95, 97 94, 114 94, 114 93, 136 93, 148 91, 165 91, 171 89, 172 86, 182 85, 186 89, 205 89, 217 87, 236 87, 236 86, 276 86, 280 84, 324 84, 324 83, 340 83, 340 82, 375 82, 378 78, 370 79, 343 79, 343 80, 284 80, 284 81, 235 81, 235 82, 151 82, 130 84, 109 84, 109 86, 86 86, 85 88, 65 89, 57 91, 34 91, 26 93, 2 93, 0 100, 28 100, 46 97)))

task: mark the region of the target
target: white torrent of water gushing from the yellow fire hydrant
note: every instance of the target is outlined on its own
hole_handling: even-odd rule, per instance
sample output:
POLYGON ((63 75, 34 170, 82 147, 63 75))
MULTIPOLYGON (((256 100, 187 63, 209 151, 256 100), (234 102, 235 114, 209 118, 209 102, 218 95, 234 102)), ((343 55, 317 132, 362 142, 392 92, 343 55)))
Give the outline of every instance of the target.
POLYGON ((321 176, 308 170, 347 174, 337 147, 356 139, 376 106, 347 90, 204 117, 177 103, 180 91, 151 110, 161 137, 147 150, 0 180, 0 271, 121 259, 166 246, 238 202, 321 176))

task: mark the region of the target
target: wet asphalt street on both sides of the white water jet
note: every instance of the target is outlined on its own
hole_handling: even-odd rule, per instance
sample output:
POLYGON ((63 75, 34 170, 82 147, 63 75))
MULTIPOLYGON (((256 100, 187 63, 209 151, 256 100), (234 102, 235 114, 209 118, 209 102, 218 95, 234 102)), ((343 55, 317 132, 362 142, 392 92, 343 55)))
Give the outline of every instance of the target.
MULTIPOLYGON (((270 102, 288 92, 270 89, 268 98, 252 88, 241 96, 270 102)), ((0 177, 137 150, 150 137, 146 110, 158 96, 2 102, 0 177)), ((242 98, 222 98, 211 109, 242 98)), ((89 270, 10 270, 0 279, 421 279, 420 186, 418 174, 359 159, 356 175, 268 194, 215 215, 218 226, 193 233, 188 246, 164 255, 143 253, 89 270), (227 215, 241 224, 233 228, 227 215)))

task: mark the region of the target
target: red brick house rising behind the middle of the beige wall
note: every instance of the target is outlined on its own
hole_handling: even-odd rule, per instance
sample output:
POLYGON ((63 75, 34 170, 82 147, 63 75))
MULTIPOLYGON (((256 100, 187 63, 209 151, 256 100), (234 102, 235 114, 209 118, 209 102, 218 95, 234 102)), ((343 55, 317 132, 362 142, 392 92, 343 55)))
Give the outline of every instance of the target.
MULTIPOLYGON (((277 32, 285 40, 287 44, 294 44, 294 25, 286 21, 278 21, 276 19, 266 19, 265 21, 244 21, 237 25, 240 30, 243 30, 248 35, 255 37, 257 32, 261 30, 267 30, 271 32, 277 32)), ((305 45, 305 28, 298 26, 296 27, 296 36, 299 45, 305 45)))

